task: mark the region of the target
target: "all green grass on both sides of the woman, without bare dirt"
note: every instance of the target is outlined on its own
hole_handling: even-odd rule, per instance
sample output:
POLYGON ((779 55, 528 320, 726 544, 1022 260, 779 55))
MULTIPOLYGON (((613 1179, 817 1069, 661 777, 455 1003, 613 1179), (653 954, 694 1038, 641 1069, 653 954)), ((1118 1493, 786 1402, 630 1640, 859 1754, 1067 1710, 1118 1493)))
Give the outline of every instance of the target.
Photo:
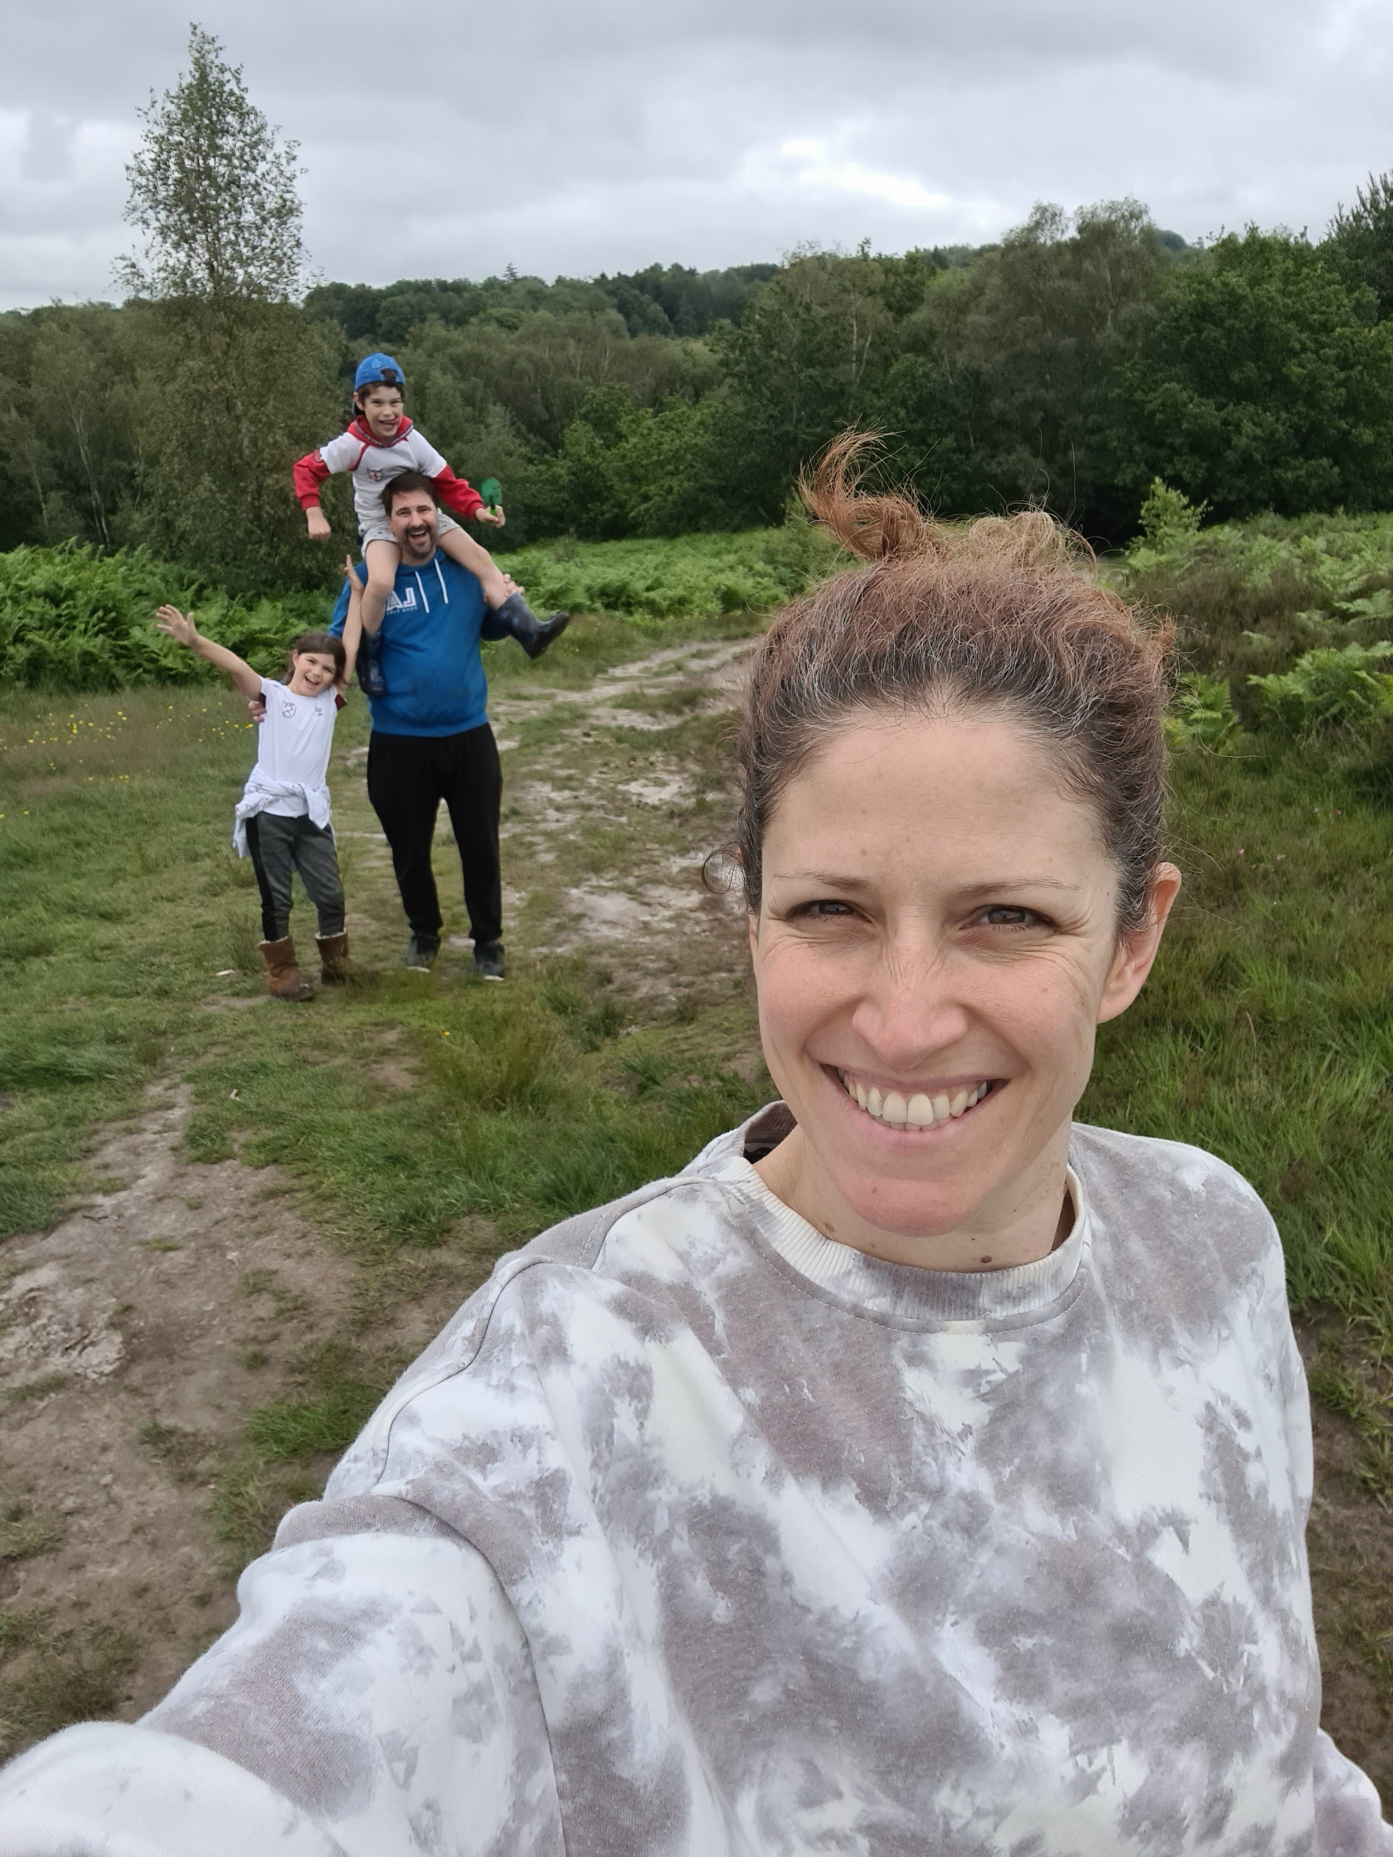
MULTIPOLYGON (((702 539, 713 559, 721 540, 702 539)), ((533 574, 524 553, 509 566, 533 574)), ((540 663, 490 648, 490 680, 501 696, 581 689, 656 646, 750 624, 743 611, 585 617, 540 663)), ((685 767, 696 797, 654 808, 644 849, 698 852, 702 808, 724 804, 730 719, 693 709, 676 687, 633 708, 670 721, 656 732, 596 726, 563 761, 552 750, 574 717, 557 704, 511 726, 511 765, 566 787, 631 778, 652 756, 685 767)), ((336 758, 364 739, 355 702, 336 758)), ((682 1166, 767 1094, 749 1064, 752 1001, 728 966, 676 999, 644 997, 617 986, 598 951, 529 964, 522 938, 507 988, 377 958, 366 984, 312 1006, 236 1010, 260 988, 251 873, 227 847, 251 747, 245 709, 217 689, 0 698, 0 1231, 41 1227, 95 1188, 85 1155, 97 1135, 182 1083, 189 1155, 277 1162, 355 1263, 345 1305, 279 1363, 267 1354, 275 1324, 305 1311, 271 1272, 243 1272, 240 1315, 253 1331, 241 1361, 264 1380, 234 1445, 154 1421, 141 1434, 169 1476, 212 1484, 228 1569, 266 1545, 290 1502, 318 1493, 405 1363, 394 1311, 422 1285, 468 1294, 501 1248, 682 1166)), ((1252 735, 1222 754, 1187 747, 1174 763, 1172 845, 1185 893, 1148 988, 1101 1031, 1081 1114, 1196 1142, 1254 1181, 1283 1235, 1293 1302, 1343 1318, 1313 1387, 1356 1426, 1360 1476, 1387 1502, 1387 789, 1339 747, 1282 750, 1252 735)), ((557 882, 622 871, 635 849, 587 821, 557 882)), ((344 851, 353 906, 358 851, 349 839, 344 851)), ((52 1389, 35 1382, 11 1398, 52 1389)), ((6 1526, 13 1549, 39 1552, 30 1543, 48 1523, 17 1513, 6 1526)), ((1347 1601, 1341 1630, 1378 1649, 1367 1621, 1382 1614, 1363 1588, 1347 1601)), ((117 1638, 0 1614, 0 1742, 102 1712, 128 1656, 117 1638)))

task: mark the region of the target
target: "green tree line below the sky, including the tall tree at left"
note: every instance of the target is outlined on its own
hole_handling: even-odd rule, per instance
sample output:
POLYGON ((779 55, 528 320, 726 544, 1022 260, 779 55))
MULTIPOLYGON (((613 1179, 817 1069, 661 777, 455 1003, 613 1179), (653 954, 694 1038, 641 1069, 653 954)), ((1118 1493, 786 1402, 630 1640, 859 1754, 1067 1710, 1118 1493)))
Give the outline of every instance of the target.
POLYGON ((321 583, 290 462, 371 347, 451 464, 503 481, 513 544, 776 522, 853 423, 944 514, 1038 501, 1105 544, 1155 477, 1213 516, 1393 507, 1393 176, 1319 240, 1192 247, 1111 201, 979 249, 371 288, 310 284, 295 147, 215 39, 143 119, 121 306, 0 316, 0 548, 321 583))

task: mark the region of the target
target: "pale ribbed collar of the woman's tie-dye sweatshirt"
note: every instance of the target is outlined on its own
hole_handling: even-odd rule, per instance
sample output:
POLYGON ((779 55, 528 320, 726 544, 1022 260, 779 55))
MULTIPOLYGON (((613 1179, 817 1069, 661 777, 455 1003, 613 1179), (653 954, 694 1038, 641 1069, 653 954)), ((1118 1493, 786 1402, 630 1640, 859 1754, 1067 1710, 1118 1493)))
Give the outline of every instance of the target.
MULTIPOLYGON (((1009 1270, 919 1270, 825 1239, 765 1187, 745 1157, 745 1136, 769 1116, 771 1110, 762 1110, 745 1129, 715 1142, 717 1151, 708 1149, 700 1172, 749 1201, 756 1242, 763 1240, 791 1270, 838 1302, 901 1320, 994 1322, 1046 1313, 1077 1278, 1088 1250, 1088 1205, 1074 1168, 1066 1170, 1074 1226, 1048 1257, 1009 1270)), ((784 1116, 791 1123, 788 1110, 784 1116)))

